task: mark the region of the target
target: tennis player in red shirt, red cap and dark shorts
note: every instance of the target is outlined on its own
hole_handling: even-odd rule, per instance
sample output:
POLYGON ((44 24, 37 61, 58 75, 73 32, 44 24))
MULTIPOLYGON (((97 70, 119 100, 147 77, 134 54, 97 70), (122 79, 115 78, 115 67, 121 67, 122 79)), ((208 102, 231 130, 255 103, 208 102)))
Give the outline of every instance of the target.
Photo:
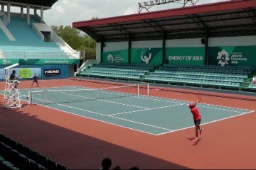
POLYGON ((191 109, 191 113, 193 114, 193 120, 196 126, 196 138, 193 140, 193 142, 198 142, 198 130, 200 135, 202 134, 203 128, 200 127, 200 123, 201 123, 201 118, 202 115, 199 113, 198 108, 196 107, 198 102, 194 103, 191 102, 189 103, 189 108, 191 109))

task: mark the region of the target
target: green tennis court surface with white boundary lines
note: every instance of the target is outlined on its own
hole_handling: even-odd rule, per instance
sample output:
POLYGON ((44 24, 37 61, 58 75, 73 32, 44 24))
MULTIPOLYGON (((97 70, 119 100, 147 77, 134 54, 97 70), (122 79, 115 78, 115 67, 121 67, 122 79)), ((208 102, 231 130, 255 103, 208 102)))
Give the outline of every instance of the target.
MULTIPOLYGON (((162 135, 194 126, 188 108, 189 101, 109 90, 92 91, 80 86, 21 89, 19 92, 22 100, 27 101, 28 91, 40 91, 31 93, 33 104, 151 135, 162 135)), ((200 103, 198 108, 203 116, 201 124, 253 112, 205 103, 200 103)))

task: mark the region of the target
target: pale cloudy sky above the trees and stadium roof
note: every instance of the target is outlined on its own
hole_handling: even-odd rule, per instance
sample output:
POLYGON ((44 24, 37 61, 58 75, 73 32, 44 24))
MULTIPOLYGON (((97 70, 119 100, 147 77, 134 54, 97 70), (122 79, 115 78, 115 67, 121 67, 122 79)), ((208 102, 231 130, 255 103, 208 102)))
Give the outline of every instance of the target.
MULTIPOLYGON (((138 13, 138 2, 149 0, 58 0, 44 12, 44 21, 49 26, 72 26, 76 21, 87 21, 93 17, 107 18, 138 13)), ((197 1, 197 0, 193 0, 197 1)), ((197 5, 227 0, 199 0, 197 5)), ((183 0, 180 1, 181 3, 183 0)), ((149 11, 181 8, 181 3, 153 6, 149 11)), ((145 10, 142 12, 146 12, 145 10)), ((40 12, 39 12, 40 13, 40 12)))

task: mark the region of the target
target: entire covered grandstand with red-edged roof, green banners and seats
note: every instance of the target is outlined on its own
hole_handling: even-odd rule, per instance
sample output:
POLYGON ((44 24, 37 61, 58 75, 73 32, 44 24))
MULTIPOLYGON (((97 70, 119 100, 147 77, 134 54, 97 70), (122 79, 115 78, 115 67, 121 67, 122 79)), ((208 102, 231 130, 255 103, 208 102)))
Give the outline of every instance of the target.
MULTIPOLYGON (((73 27, 97 41, 94 63, 105 64, 100 67, 154 66, 133 77, 139 81, 247 89, 256 74, 253 0, 100 18, 74 22, 73 27)), ((110 69, 87 69, 90 65, 79 69, 81 76, 125 78, 104 73, 113 74, 110 69)))

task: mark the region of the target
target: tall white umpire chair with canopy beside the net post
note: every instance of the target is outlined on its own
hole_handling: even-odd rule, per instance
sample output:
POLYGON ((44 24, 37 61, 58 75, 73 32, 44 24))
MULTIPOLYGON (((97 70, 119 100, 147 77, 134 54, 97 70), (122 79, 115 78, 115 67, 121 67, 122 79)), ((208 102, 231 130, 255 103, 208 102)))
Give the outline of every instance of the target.
POLYGON ((18 80, 10 80, 9 70, 18 66, 18 63, 4 68, 6 86, 4 89, 4 108, 21 108, 21 101, 18 93, 18 80))

